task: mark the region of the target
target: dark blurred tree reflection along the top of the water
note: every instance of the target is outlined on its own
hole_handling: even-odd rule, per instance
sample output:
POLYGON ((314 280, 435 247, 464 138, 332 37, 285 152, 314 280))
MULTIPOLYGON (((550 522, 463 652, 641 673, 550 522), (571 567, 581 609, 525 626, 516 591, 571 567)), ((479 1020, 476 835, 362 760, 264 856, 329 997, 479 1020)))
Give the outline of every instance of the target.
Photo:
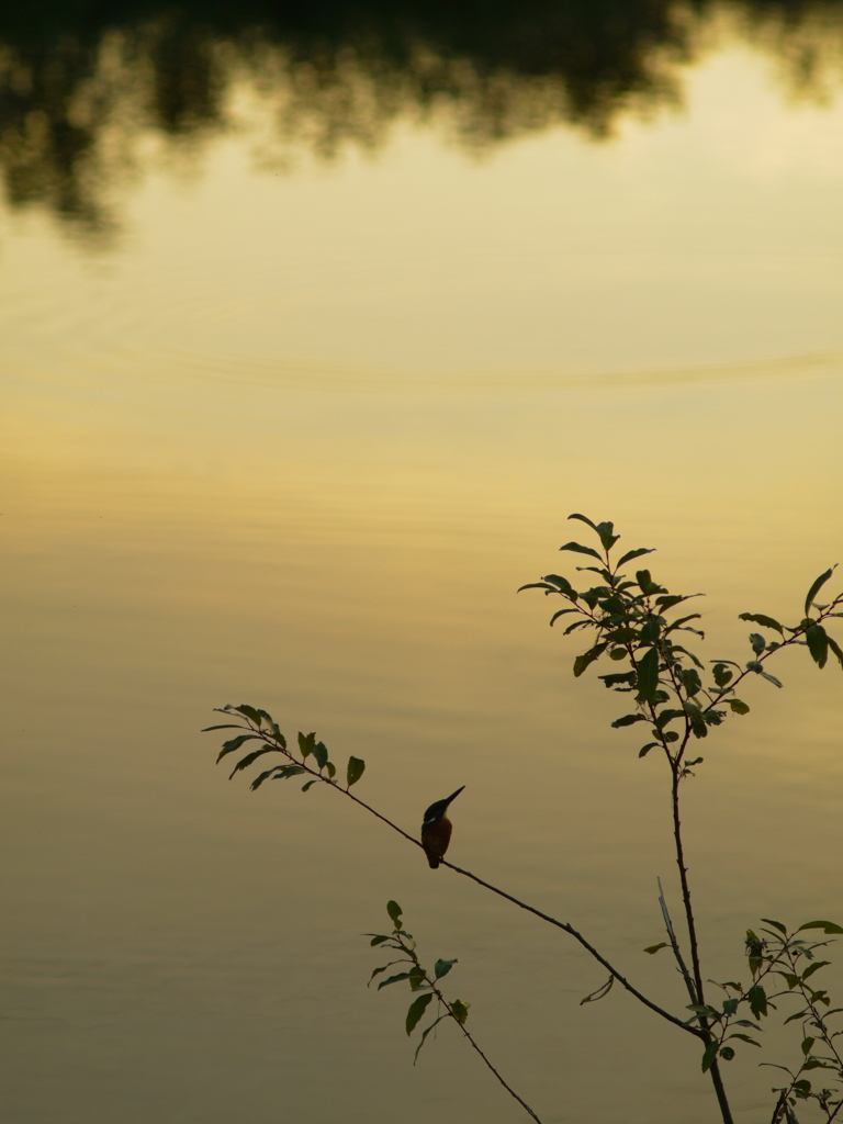
MULTIPOLYGON (((12 207, 42 205, 107 236, 139 140, 196 154, 230 127, 233 92, 272 108, 275 154, 377 147, 399 118, 434 117, 480 149, 552 124, 595 138, 623 114, 681 100, 711 42, 711 0, 390 0, 69 8, 0 15, 0 165, 12 207)), ((791 93, 843 71, 843 0, 735 0, 732 27, 776 54, 791 93)))

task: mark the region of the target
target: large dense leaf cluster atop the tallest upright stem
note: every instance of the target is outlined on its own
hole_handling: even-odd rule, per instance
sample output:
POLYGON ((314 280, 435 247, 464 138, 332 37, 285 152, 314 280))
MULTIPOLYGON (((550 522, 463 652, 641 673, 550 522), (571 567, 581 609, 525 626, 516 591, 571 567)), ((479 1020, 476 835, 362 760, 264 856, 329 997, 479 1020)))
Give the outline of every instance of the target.
POLYGON ((626 551, 617 561, 613 549, 619 535, 611 523, 592 523, 584 515, 571 515, 596 533, 601 550, 570 542, 560 547, 595 560, 596 564, 577 566, 578 572, 597 574, 599 581, 586 590, 577 590, 561 574, 545 574, 541 581, 529 582, 522 589, 542 589, 545 596, 558 596, 568 601, 551 617, 551 625, 561 617, 572 616, 565 635, 579 629, 592 631, 595 643, 573 662, 574 676, 606 656, 626 664, 625 670, 599 678, 610 690, 633 694, 637 709, 617 718, 613 726, 620 728, 644 722, 650 724, 651 740, 641 746, 640 756, 652 749, 665 753, 678 776, 688 776, 691 767, 703 758, 688 760, 687 746, 691 737, 706 737, 711 726, 719 726, 727 713, 747 714, 749 706, 737 697, 737 686, 751 674, 758 674, 776 687, 781 682, 764 668, 773 652, 794 644, 808 647, 818 667, 825 667, 828 653, 837 658, 843 668, 843 650, 824 626, 830 617, 843 616, 843 593, 826 605, 815 600, 834 568, 822 573, 812 584, 805 599, 803 619, 796 625, 782 625, 774 617, 762 613, 742 613, 741 619, 753 622, 776 635, 767 638, 761 633, 750 634, 752 659, 744 667, 734 660, 710 660, 706 667, 687 646, 685 636, 694 634, 705 638, 705 633, 691 624, 699 613, 679 610, 679 606, 700 595, 671 593, 653 580, 650 570, 637 570, 634 578, 623 568, 651 547, 626 551), (677 616, 677 611, 680 615, 677 616))

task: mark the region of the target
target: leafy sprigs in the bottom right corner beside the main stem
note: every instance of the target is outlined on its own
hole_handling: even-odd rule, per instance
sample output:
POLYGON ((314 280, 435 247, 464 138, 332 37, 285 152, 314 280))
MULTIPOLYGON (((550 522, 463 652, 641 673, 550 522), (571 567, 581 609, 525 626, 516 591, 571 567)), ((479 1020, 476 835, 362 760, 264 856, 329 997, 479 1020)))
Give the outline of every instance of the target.
POLYGON ((694 1012, 688 1023, 705 1024, 713 1035, 703 1055, 703 1070, 707 1071, 715 1058, 731 1061, 735 1057, 729 1042, 740 1040, 760 1046, 761 1043, 746 1031, 760 1032, 760 1021, 778 1009, 777 1000, 796 999, 798 1009, 785 1023, 798 1023, 801 1027, 801 1059, 792 1070, 786 1066, 773 1067, 783 1070, 790 1079, 785 1087, 773 1090, 780 1095, 777 1118, 790 1121, 797 1100, 813 1099, 831 1121, 843 1108, 843 1097, 837 1089, 814 1089, 805 1075, 815 1069, 832 1070, 843 1082, 843 1057, 835 1041, 843 1030, 833 1030, 828 1022, 831 1017, 843 1014, 843 1007, 832 1008, 828 992, 818 988, 814 979, 830 963, 816 959, 816 951, 827 948, 831 942, 810 941, 800 934, 821 930, 830 936, 843 933, 843 927, 830 921, 810 921, 791 933, 779 921, 769 917, 762 921, 764 924, 760 934, 746 931, 749 986, 727 980, 718 985, 726 996, 719 1008, 709 1004, 691 1004, 688 1007, 694 1012), (752 1018, 744 1017, 745 1014, 752 1015, 752 1018))

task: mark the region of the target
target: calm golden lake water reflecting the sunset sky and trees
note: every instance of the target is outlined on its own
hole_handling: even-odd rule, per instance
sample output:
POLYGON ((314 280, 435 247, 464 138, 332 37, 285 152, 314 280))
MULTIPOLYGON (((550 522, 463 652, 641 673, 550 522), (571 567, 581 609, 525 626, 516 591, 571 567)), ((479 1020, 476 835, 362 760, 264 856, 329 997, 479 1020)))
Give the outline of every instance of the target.
MULTIPOLYGON (((715 1124, 564 933, 200 729, 315 729, 413 834, 464 785, 448 858, 687 1017, 663 761, 516 590, 614 519, 743 662, 843 561, 843 6, 153 8, 0 18, 2 1120, 527 1120, 366 990, 397 899, 544 1124, 715 1124)), ((841 669, 777 674, 686 787, 707 978, 843 922, 841 669)))

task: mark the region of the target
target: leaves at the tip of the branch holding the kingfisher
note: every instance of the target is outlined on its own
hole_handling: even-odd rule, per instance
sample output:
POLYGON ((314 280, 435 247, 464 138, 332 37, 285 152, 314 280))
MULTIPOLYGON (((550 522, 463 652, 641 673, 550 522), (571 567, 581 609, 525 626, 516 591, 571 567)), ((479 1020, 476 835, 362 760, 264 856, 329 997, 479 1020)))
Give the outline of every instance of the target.
MULTIPOLYGON (((202 731, 202 733, 207 733, 211 729, 244 731, 244 733, 237 734, 235 737, 232 737, 227 742, 223 743, 223 749, 217 755, 217 763, 219 763, 223 758, 227 756, 229 753, 236 753, 246 744, 246 742, 261 743, 259 749, 251 749, 239 759, 229 774, 229 780, 235 776, 235 773, 241 772, 243 769, 247 769, 266 753, 280 753, 287 759, 287 763, 282 765, 273 765, 271 769, 266 769, 259 773, 252 781, 251 787, 253 790, 260 788, 265 780, 289 780, 291 777, 301 777, 305 773, 307 773, 310 779, 302 785, 302 792, 307 792, 309 788, 320 782, 339 787, 339 782, 336 780, 336 765, 329 759, 328 750, 325 743, 317 742, 316 734, 302 734, 299 732, 297 755, 293 750, 290 750, 287 744, 287 738, 279 729, 278 723, 271 714, 266 713, 266 710, 259 710, 253 706, 246 706, 245 703, 241 706, 232 706, 229 703, 224 707, 215 707, 215 709, 220 714, 225 714, 230 717, 239 715, 243 719, 245 719, 235 723, 221 723, 217 726, 206 726, 205 731, 202 731)), ((348 758, 348 764, 345 769, 346 792, 352 785, 360 780, 363 776, 364 769, 365 761, 363 761, 362 758, 348 758)))

